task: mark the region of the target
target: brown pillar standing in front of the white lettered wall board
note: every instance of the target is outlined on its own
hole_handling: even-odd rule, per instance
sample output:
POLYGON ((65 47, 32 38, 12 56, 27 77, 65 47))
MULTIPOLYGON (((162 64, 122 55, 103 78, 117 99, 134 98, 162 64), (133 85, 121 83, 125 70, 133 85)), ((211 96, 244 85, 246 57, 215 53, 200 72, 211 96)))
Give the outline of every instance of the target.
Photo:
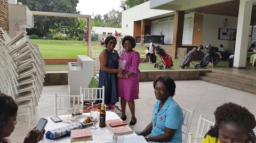
POLYGON ((171 56, 175 58, 176 49, 182 46, 185 11, 175 11, 173 27, 173 43, 171 56))

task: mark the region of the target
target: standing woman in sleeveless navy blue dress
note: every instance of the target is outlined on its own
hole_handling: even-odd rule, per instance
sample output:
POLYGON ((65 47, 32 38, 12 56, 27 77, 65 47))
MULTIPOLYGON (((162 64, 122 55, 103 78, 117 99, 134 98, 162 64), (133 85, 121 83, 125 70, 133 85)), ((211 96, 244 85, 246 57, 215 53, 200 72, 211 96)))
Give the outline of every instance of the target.
POLYGON ((115 104, 119 101, 117 94, 117 73, 122 73, 121 68, 118 69, 119 55, 114 50, 116 46, 116 38, 108 36, 105 39, 106 49, 104 49, 99 56, 100 72, 99 72, 99 86, 105 86, 105 104, 115 104))

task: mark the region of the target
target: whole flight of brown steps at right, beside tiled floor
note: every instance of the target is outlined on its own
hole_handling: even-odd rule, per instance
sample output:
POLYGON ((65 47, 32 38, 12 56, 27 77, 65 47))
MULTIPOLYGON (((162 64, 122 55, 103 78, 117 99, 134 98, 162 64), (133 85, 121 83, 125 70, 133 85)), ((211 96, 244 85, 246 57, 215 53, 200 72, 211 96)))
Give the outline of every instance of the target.
POLYGON ((212 69, 212 72, 205 73, 205 76, 201 76, 199 79, 256 95, 256 77, 249 75, 212 69))

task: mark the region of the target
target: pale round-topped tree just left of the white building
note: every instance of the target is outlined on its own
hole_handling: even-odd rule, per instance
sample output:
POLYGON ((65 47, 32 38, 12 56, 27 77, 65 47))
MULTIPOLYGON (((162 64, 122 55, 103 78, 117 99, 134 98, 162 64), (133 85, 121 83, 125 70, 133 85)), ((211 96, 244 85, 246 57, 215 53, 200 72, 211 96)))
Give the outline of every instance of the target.
POLYGON ((103 15, 107 27, 119 27, 122 22, 122 12, 112 9, 108 14, 103 15))

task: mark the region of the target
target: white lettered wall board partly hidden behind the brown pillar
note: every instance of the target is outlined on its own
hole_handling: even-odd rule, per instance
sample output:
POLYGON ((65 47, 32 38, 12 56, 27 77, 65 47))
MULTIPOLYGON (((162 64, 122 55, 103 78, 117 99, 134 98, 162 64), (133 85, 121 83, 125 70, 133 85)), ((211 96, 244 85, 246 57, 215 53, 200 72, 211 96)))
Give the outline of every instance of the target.
MULTIPOLYGON (((194 15, 194 13, 188 13, 184 16, 182 44, 192 44, 195 17, 194 15)), ((160 35, 160 32, 163 31, 165 35, 164 42, 166 44, 172 44, 173 27, 174 16, 170 18, 154 20, 151 22, 151 35, 160 35)))

